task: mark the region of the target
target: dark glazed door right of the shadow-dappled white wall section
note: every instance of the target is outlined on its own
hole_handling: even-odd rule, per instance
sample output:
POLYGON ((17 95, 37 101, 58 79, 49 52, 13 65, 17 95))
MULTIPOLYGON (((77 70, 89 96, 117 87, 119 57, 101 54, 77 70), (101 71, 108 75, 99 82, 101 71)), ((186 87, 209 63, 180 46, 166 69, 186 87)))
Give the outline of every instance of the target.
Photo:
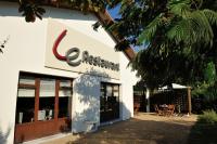
POLYGON ((100 122, 119 118, 119 86, 101 83, 100 122))

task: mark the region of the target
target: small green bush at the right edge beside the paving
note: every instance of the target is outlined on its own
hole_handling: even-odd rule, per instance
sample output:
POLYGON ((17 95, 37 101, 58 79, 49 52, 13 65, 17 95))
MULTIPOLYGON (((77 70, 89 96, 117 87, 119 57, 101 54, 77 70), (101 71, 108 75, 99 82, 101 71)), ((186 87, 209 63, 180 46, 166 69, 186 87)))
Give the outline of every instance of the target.
POLYGON ((203 115, 199 116, 199 123, 217 125, 217 114, 215 110, 203 112, 203 115))

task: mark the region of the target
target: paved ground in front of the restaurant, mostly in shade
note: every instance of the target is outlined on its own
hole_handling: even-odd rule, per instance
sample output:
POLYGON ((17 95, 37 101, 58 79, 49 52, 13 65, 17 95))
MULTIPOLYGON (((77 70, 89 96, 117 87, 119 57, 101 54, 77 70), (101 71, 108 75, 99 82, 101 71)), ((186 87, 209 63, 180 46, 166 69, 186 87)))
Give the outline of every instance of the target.
POLYGON ((101 127, 94 133, 68 135, 44 144, 187 144, 195 121, 196 116, 139 113, 130 120, 101 127))

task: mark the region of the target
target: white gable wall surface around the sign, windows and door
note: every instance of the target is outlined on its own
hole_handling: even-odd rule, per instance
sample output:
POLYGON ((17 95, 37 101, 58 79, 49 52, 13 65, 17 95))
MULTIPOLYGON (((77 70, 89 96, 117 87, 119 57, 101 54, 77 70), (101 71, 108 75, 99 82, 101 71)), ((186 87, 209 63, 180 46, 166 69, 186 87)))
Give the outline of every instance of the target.
MULTIPOLYGON (((91 36, 97 40, 114 48, 115 42, 103 28, 92 29, 97 22, 94 15, 84 15, 76 11, 46 8, 43 21, 26 23, 17 12, 16 3, 0 2, 0 42, 10 37, 3 54, 0 54, 0 143, 13 143, 15 127, 15 105, 20 71, 48 74, 75 78, 73 95, 74 131, 82 131, 84 120, 97 119, 99 125, 100 81, 120 83, 120 102, 123 102, 122 118, 132 116, 132 83, 135 75, 126 69, 128 60, 120 54, 120 80, 81 75, 44 67, 48 17, 91 36), (84 83, 82 81, 86 81, 84 83), (89 81, 89 82, 88 82, 89 81), (79 117, 85 116, 85 117, 79 117), (87 117, 90 116, 90 117, 87 117), (78 129, 79 128, 79 129, 78 129), (2 133, 2 134, 1 134, 2 133), (9 133, 9 134, 8 134, 9 133), (4 140, 5 138, 5 140, 4 140)), ((95 73, 93 70, 93 73, 95 73)))

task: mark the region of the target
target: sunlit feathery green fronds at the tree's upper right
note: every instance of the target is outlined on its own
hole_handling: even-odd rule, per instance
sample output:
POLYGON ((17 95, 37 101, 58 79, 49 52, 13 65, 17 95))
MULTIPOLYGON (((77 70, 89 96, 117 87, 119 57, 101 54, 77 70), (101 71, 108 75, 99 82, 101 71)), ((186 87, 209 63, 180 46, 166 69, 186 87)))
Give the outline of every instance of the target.
POLYGON ((189 0, 170 1, 167 3, 167 11, 161 12, 139 37, 139 42, 151 41, 153 37, 161 36, 163 41, 157 39, 154 42, 174 41, 176 44, 183 43, 189 47, 194 43, 212 44, 214 34, 212 24, 216 24, 217 13, 212 10, 192 9, 189 0), (161 31, 164 29, 164 34, 161 31))

